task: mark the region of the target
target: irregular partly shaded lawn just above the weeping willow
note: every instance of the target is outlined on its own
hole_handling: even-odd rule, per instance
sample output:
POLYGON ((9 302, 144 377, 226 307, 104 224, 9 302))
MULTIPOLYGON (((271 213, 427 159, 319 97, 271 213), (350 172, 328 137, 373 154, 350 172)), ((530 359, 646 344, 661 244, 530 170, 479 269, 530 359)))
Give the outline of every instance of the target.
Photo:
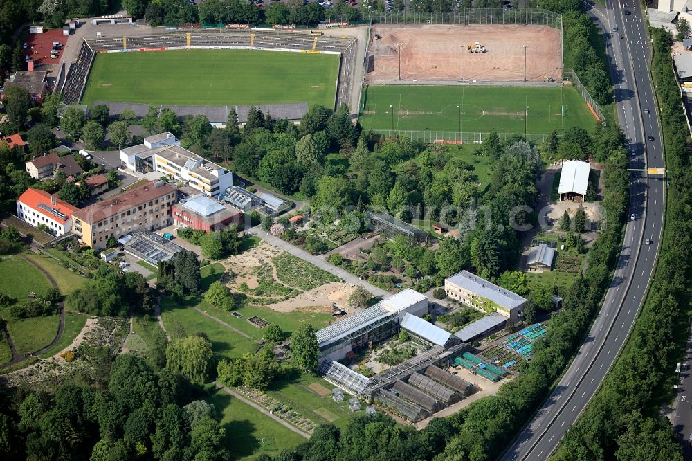
MULTIPOLYGON (((209 264, 201 269, 202 292, 206 291, 212 282, 219 280, 223 270, 224 266, 219 263, 209 264)), ((192 306, 203 310, 212 307, 203 300, 201 295, 188 296, 183 305, 174 302, 170 296, 162 296, 161 319, 166 330, 172 332, 181 328, 185 334, 203 332, 212 342, 212 350, 228 359, 236 359, 246 352, 253 353, 257 350, 257 344, 190 309, 192 306)))

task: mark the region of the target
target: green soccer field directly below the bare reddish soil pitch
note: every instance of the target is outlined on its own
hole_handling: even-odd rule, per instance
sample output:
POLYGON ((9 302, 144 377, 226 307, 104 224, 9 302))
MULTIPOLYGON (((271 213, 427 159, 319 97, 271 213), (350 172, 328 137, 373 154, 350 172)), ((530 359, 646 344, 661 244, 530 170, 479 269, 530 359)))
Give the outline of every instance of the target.
POLYGON ((393 128, 487 133, 494 129, 498 133, 524 133, 526 129, 529 134, 546 134, 570 127, 590 130, 597 123, 579 92, 567 85, 563 88, 385 86, 367 87, 364 93, 361 124, 374 131, 393 128))

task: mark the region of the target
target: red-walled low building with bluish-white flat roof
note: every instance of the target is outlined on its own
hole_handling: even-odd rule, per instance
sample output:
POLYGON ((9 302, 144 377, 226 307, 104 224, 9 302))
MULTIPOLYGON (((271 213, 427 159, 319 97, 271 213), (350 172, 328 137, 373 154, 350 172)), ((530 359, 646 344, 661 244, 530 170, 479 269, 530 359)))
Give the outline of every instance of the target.
POLYGON ((218 201, 197 195, 172 206, 173 222, 176 226, 194 230, 221 230, 232 224, 239 224, 243 213, 226 207, 218 201))

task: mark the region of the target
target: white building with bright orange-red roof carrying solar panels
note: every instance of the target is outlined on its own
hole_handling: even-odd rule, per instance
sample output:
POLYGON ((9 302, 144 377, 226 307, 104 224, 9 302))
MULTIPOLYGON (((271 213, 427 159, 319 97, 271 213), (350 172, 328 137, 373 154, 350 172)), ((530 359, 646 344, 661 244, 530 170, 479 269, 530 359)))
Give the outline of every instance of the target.
POLYGON ((48 194, 45 190, 28 188, 17 200, 17 216, 29 224, 44 224, 53 235, 72 230, 72 213, 79 208, 48 194))

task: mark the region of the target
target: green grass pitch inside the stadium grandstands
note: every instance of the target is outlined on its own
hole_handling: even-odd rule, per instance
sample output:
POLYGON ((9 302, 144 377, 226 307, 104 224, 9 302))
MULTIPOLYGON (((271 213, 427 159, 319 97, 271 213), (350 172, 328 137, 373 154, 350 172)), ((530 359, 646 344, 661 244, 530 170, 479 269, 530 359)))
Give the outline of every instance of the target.
POLYGON ((334 107, 339 56, 256 50, 99 53, 82 104, 334 107))

